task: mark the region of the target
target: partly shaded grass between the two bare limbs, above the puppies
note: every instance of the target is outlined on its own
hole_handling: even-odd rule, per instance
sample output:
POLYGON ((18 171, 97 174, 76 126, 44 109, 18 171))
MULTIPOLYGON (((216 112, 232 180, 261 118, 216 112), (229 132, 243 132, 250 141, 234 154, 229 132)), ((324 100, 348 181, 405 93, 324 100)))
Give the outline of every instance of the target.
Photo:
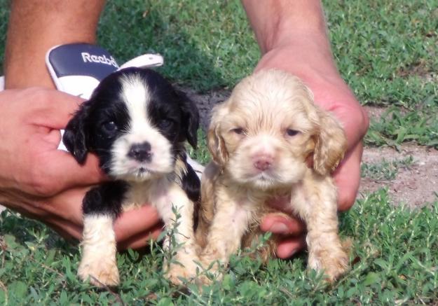
POLYGON ((259 50, 239 1, 112 1, 99 42, 121 62, 161 53, 160 69, 198 90, 226 88, 249 74, 259 50))

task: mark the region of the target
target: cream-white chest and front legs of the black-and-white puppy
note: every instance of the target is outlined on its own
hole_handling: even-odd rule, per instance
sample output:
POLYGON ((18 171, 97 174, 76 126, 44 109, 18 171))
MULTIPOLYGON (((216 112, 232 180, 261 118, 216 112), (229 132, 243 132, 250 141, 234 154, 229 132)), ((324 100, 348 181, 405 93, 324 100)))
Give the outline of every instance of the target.
MULTIPOLYGON (((186 172, 184 162, 177 160, 174 174, 176 181, 180 181, 186 172)), ((175 228, 178 232, 174 236, 177 244, 182 244, 177 250, 174 260, 181 265, 171 263, 165 266, 166 277, 174 284, 180 284, 179 277, 189 278, 196 272, 196 241, 193 233, 193 202, 175 182, 175 178, 131 182, 126 199, 123 202, 123 211, 151 203, 160 214, 165 228, 175 228), (177 209, 180 218, 174 214, 172 207, 177 209), (178 221, 175 223, 175 221, 178 221)), ((169 239, 166 237, 164 246, 169 249, 169 239)), ((95 286, 115 286, 118 284, 118 268, 116 264, 116 237, 113 228, 113 218, 105 215, 85 216, 83 225, 82 260, 78 275, 95 286), (90 277, 93 276, 93 277, 90 277), (95 279, 98 279, 96 281, 95 279)))

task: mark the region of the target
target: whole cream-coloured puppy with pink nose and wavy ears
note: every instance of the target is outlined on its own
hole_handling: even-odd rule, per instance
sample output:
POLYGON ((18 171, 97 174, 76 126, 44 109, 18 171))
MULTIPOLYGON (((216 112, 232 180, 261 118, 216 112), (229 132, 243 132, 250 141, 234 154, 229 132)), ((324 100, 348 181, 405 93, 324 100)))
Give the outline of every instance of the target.
MULTIPOLYGON (((313 104, 299 78, 268 70, 242 80, 214 108, 208 146, 214 161, 201 182, 196 233, 204 267, 214 260, 226 264, 249 246, 260 233, 261 217, 274 211, 266 200, 290 195, 290 209, 307 225, 308 266, 330 281, 345 272, 348 256, 338 237, 330 176, 343 158, 345 136, 335 118, 313 104)), ((275 243, 265 251, 266 259, 275 243)))

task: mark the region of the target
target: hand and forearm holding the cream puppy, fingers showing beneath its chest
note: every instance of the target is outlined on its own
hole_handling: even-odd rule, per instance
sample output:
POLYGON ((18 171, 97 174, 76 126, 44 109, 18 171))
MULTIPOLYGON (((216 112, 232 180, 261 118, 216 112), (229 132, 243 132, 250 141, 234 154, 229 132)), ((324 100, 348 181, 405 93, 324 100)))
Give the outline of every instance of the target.
MULTIPOLYGON (((369 119, 336 69, 322 4, 317 0, 242 3, 262 53, 256 71, 280 69, 298 76, 312 90, 315 104, 334 113, 343 125, 347 151, 333 176, 338 188, 338 210, 350 209, 359 188, 362 138, 369 119)), ((275 198, 269 203, 284 210, 288 200, 275 198)), ((305 246, 305 228, 297 219, 266 216, 261 229, 283 235, 278 244, 280 258, 288 258, 305 246)))

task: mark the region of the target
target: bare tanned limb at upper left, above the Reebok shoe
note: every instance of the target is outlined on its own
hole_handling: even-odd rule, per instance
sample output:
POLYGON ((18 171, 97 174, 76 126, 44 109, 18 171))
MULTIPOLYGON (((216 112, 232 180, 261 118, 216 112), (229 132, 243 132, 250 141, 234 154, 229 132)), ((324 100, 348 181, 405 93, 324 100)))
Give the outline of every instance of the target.
POLYGON ((6 40, 6 88, 53 82, 46 52, 64 43, 94 43, 104 0, 14 0, 6 40))

